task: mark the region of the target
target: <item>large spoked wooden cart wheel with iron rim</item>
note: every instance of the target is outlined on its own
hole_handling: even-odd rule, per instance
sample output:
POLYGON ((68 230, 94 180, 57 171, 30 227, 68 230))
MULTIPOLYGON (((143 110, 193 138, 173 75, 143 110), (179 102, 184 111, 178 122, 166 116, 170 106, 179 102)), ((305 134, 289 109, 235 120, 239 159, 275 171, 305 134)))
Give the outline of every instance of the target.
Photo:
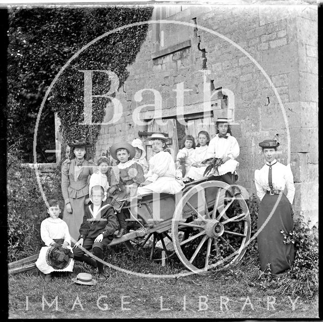
POLYGON ((193 186, 177 204, 172 239, 181 262, 198 273, 240 260, 250 229, 249 209, 241 195, 234 196, 225 182, 205 181, 193 186))

